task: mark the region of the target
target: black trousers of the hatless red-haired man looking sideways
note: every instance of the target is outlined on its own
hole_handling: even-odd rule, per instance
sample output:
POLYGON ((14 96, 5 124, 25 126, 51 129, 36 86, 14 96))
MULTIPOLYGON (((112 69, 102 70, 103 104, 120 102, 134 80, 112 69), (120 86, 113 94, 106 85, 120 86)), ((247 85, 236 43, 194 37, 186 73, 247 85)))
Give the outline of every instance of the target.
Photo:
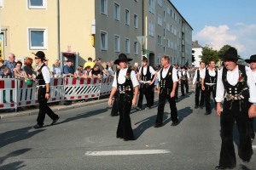
POLYGON ((155 124, 158 124, 160 126, 162 125, 164 109, 165 109, 165 105, 166 105, 166 99, 169 101, 172 122, 178 122, 175 97, 171 98, 171 96, 170 96, 171 92, 172 92, 172 90, 160 89, 159 105, 158 105, 158 109, 157 109, 157 116, 156 116, 155 124))

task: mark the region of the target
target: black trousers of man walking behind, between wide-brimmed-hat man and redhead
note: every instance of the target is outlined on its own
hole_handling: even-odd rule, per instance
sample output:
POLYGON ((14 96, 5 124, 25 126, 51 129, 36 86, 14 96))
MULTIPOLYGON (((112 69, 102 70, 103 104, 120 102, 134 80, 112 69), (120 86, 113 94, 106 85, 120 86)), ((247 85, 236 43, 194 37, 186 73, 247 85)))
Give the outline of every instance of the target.
POLYGON ((149 86, 148 84, 141 84, 140 87, 140 95, 139 95, 139 99, 137 102, 137 107, 141 108, 143 107, 143 96, 145 95, 146 100, 147 100, 147 107, 151 107, 152 105, 154 105, 154 95, 152 93, 152 88, 154 88, 154 86, 149 86))

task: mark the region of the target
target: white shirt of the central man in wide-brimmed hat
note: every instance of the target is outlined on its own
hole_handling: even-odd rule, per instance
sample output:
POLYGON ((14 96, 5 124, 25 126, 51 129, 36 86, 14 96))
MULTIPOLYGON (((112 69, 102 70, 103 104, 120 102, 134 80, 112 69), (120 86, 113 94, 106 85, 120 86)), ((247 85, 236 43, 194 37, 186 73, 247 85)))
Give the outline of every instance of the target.
MULTIPOLYGON (((127 70, 128 70, 128 68, 121 69, 119 71, 119 77, 118 77, 119 84, 125 83, 125 80, 126 80, 125 77, 126 77, 127 70)), ((136 77, 135 71, 131 71, 131 82, 132 82, 133 88, 135 88, 135 87, 137 87, 139 85, 139 82, 137 81, 137 77, 136 77)), ((113 77, 112 87, 113 88, 117 88, 116 73, 114 74, 114 77, 113 77)))

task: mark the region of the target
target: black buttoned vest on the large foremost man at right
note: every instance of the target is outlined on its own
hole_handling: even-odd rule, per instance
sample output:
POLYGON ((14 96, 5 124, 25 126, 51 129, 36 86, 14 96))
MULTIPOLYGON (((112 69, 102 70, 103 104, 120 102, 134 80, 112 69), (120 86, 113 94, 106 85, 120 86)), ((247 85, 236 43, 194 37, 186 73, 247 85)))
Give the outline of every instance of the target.
POLYGON ((245 102, 249 99, 249 91, 247 86, 247 73, 245 65, 238 65, 239 77, 242 77, 241 81, 238 81, 235 86, 230 85, 227 81, 228 70, 224 67, 222 72, 222 82, 226 93, 225 101, 234 101, 243 99, 245 102))

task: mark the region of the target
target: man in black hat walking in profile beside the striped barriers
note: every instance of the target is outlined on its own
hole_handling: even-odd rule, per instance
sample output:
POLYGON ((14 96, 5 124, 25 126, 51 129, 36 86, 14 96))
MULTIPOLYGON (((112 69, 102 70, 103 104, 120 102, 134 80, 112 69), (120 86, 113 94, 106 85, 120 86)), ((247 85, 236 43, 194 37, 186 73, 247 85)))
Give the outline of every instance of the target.
POLYGON ((38 51, 35 54, 35 63, 38 65, 37 67, 37 87, 38 87, 38 104, 39 104, 39 113, 38 113, 38 123, 33 126, 34 128, 41 128, 44 125, 45 113, 53 120, 50 125, 55 125, 55 123, 59 120, 59 116, 57 116, 49 106, 47 105, 47 101, 50 98, 50 73, 49 68, 44 64, 45 54, 43 51, 38 51))

